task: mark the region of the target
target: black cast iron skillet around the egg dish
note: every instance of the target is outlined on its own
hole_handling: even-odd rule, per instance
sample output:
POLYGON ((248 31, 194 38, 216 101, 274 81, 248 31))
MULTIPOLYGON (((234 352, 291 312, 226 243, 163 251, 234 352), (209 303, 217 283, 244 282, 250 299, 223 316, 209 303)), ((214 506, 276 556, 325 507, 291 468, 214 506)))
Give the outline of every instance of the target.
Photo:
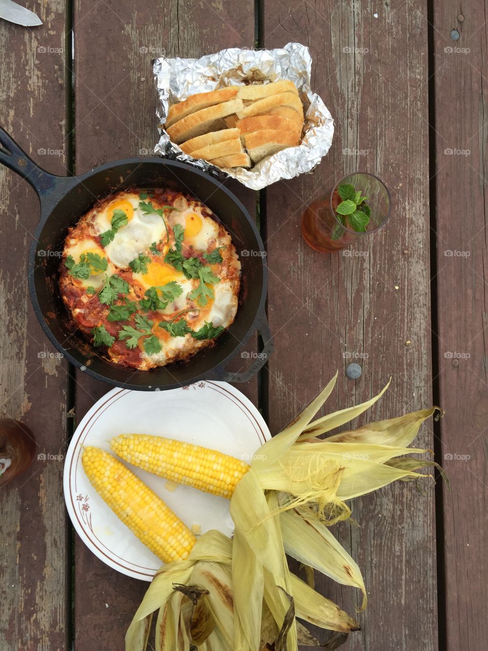
POLYGON ((1 128, 0 145, 0 163, 31 184, 41 205, 40 223, 29 253, 29 292, 34 312, 47 337, 75 367, 116 387, 159 390, 198 380, 245 382, 264 365, 273 352, 264 306, 264 247, 249 213, 232 192, 208 174, 169 159, 128 158, 100 165, 83 176, 55 176, 40 169, 1 128), (92 348, 72 324, 58 287, 58 268, 68 227, 74 226, 98 199, 129 187, 170 187, 200 199, 230 232, 242 264, 236 320, 215 346, 188 361, 149 371, 119 367, 92 348), (263 352, 245 372, 226 371, 230 358, 256 330, 264 340, 263 352))

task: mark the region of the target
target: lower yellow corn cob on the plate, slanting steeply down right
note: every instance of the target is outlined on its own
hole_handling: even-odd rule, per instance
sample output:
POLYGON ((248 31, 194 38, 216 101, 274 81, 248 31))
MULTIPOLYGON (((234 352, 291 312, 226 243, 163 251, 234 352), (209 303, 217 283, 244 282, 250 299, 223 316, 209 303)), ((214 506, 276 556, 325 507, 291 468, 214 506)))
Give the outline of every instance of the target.
POLYGON ((103 501, 161 561, 187 558, 197 538, 134 473, 96 447, 85 448, 82 463, 103 501))

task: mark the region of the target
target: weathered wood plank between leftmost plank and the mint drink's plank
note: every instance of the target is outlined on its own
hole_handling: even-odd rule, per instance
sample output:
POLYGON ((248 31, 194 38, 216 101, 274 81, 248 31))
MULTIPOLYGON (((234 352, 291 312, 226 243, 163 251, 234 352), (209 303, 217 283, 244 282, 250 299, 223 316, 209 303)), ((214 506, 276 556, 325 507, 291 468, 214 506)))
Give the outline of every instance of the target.
MULTIPOLYGON (((111 159, 153 151, 158 136, 152 59, 162 53, 199 57, 220 48, 250 46, 254 39, 251 0, 238 7, 230 0, 158 1, 147 6, 135 1, 78 0, 74 22, 78 172, 111 159), (103 60, 94 43, 112 44, 103 48, 103 60)), ((237 188, 252 214, 254 193, 237 188)), ((247 390, 253 402, 256 386, 254 381, 247 390)), ((109 388, 77 374, 78 422, 109 388)), ((77 651, 120 651, 148 584, 103 565, 79 540, 75 563, 77 651)))

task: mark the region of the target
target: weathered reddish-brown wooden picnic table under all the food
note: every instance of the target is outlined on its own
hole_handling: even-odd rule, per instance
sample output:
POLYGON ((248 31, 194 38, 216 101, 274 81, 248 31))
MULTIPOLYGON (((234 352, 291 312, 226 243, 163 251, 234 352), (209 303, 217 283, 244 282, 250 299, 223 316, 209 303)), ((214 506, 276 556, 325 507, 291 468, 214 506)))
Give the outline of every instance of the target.
MULTIPOLYGON (((453 0, 27 0, 27 7, 42 27, 0 20, 0 124, 57 174, 152 152, 152 59, 159 55, 290 41, 310 48, 312 89, 336 125, 329 154, 313 173, 260 193, 230 184, 259 218, 276 346, 260 377, 239 389, 273 433, 337 368, 331 409, 366 400, 390 376, 367 419, 432 402, 446 409, 444 419, 422 427, 418 443, 435 450, 450 490, 398 483, 355 501, 359 527, 334 529, 370 597, 357 615, 361 630, 342 648, 485 648, 488 79, 481 1, 463 9, 453 0), (304 207, 357 169, 390 188, 390 222, 351 249, 359 255, 312 251, 300 233, 304 207), (362 365, 357 381, 345 374, 354 357, 362 365)), ((5 167, 0 213, 1 412, 33 430, 39 452, 62 455, 75 424, 110 387, 44 354, 55 350, 27 293, 38 203, 5 167)), ((147 587, 77 538, 64 508, 62 465, 34 460, 0 493, 2 651, 120 651, 147 587)), ((355 590, 327 580, 320 587, 354 613, 355 590)))

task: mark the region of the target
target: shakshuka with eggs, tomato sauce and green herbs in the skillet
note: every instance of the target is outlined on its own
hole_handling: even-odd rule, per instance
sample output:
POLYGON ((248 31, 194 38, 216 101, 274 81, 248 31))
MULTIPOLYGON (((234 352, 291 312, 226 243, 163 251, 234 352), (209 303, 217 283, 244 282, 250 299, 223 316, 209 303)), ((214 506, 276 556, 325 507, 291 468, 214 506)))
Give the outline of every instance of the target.
POLYGON ((64 242, 62 299, 111 361, 148 370, 213 344, 236 316, 241 264, 202 202, 163 189, 98 202, 64 242))

